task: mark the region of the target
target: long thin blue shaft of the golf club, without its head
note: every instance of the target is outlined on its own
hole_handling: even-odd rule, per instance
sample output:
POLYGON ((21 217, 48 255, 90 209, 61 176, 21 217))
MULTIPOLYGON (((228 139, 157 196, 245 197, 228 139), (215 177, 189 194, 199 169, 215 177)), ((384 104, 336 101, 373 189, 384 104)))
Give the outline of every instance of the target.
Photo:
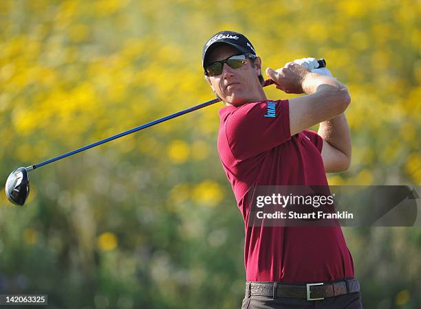
MULTIPOLYGON (((323 58, 322 59, 319 59, 318 62, 319 62, 319 67, 325 67, 326 66, 326 62, 325 62, 325 60, 323 58)), ((263 83, 263 87, 269 86, 270 84, 273 84, 273 83, 274 83, 273 80, 265 80, 265 82, 263 83)), ((52 158, 52 159, 47 160, 47 161, 43 161, 43 162, 38 163, 38 164, 35 164, 35 165, 30 165, 30 166, 28 166, 28 168, 26 168, 26 170, 29 172, 31 170, 35 170, 36 168, 41 168, 41 166, 47 165, 48 163, 52 163, 54 161, 58 161, 58 160, 64 159, 65 157, 69 157, 69 156, 75 155, 78 152, 83 152, 84 150, 88 150, 90 148, 94 148, 94 147, 99 146, 101 144, 105 144, 108 141, 112 141, 114 139, 118 139, 118 138, 123 137, 125 135, 129 135, 131 133, 138 132, 140 130, 143 130, 144 128, 149 128, 150 126, 154 126, 155 124, 160 124, 161 122, 165 122, 166 120, 173 119, 175 117, 184 115, 186 113, 191 113, 192 111, 197 111, 200 108, 204 108, 206 106, 215 104, 215 103, 220 102, 220 101, 221 100, 219 100, 219 98, 215 98, 213 100, 209 100, 209 101, 204 102, 204 103, 201 103, 199 105, 196 105, 196 106, 193 106, 193 107, 184 109, 183 111, 179 111, 177 113, 173 113, 173 114, 168 115, 166 117, 162 117, 160 119, 153 120, 153 122, 148 122, 147 124, 142 124, 142 126, 136 126, 136 128, 132 128, 130 130, 127 130, 125 132, 119 133, 117 135, 113 135, 113 136, 108 137, 106 139, 102 139, 100 141, 96 141, 96 143, 94 143, 94 144, 89 144, 87 146, 83 146, 83 147, 78 148, 76 150, 73 150, 71 152, 67 152, 64 155, 60 155, 58 157, 52 158)))

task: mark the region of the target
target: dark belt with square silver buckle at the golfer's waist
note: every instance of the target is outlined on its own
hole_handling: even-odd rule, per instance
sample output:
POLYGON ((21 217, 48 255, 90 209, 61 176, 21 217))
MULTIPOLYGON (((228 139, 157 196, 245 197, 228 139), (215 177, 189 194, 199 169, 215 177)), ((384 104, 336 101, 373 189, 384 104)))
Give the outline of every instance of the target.
POLYGON ((270 296, 304 298, 308 301, 321 300, 360 290, 357 279, 312 284, 283 284, 281 282, 246 282, 246 296, 270 296))

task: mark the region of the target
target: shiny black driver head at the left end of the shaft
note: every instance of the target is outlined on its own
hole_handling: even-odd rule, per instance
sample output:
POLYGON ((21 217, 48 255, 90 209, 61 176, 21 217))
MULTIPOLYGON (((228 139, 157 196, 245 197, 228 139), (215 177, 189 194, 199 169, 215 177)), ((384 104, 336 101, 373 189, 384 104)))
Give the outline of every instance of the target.
POLYGON ((6 181, 6 196, 16 205, 25 204, 30 192, 29 174, 26 168, 18 168, 10 173, 6 181))

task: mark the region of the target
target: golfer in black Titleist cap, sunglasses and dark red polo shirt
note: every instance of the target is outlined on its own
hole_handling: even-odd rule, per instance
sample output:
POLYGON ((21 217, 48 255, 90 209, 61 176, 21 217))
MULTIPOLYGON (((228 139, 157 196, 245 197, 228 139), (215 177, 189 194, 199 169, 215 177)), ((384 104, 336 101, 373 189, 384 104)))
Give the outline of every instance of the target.
POLYGON ((226 103, 219 110, 218 152, 246 227, 242 308, 363 308, 341 227, 249 226, 253 186, 327 185, 325 172, 347 170, 347 88, 327 69, 311 72, 319 65, 305 58, 266 74, 277 89, 307 95, 268 101, 261 58, 237 32, 213 35, 202 65, 226 103), (318 133, 307 130, 319 123, 318 133))

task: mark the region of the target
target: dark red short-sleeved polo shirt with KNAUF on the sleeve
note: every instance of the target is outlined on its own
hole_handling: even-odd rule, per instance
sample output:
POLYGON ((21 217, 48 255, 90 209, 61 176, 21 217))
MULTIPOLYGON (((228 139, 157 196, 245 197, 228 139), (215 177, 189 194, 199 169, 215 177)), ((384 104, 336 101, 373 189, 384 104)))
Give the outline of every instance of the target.
POLYGON ((248 227, 253 185, 327 185, 323 140, 310 130, 291 137, 288 100, 219 110, 218 152, 244 218, 247 281, 328 282, 354 277, 341 227, 248 227))

